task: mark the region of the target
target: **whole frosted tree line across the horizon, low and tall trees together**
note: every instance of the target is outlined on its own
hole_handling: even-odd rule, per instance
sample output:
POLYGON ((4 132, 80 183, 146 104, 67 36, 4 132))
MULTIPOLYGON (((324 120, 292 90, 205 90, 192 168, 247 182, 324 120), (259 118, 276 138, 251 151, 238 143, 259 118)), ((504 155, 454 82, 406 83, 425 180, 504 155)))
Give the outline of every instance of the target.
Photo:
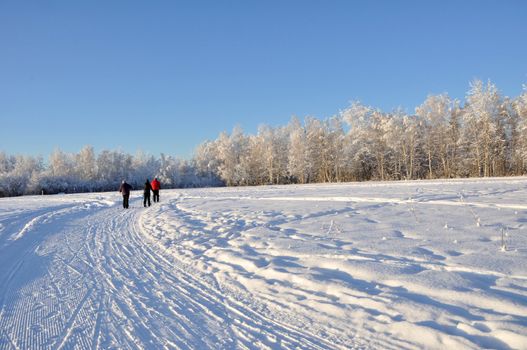
POLYGON ((502 96, 475 80, 466 100, 431 95, 415 113, 359 102, 320 120, 296 117, 246 135, 236 127, 190 160, 56 150, 42 158, 0 153, 0 196, 114 190, 157 176, 166 187, 510 176, 527 173, 527 89, 502 96))

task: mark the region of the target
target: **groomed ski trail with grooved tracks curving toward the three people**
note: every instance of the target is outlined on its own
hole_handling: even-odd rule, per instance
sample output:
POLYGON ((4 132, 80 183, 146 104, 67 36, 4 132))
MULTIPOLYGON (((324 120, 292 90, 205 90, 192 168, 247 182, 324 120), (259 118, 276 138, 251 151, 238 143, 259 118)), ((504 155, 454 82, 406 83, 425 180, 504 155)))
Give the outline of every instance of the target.
POLYGON ((131 205, 25 219, 2 259, 0 349, 341 348, 166 254, 147 237, 162 206, 131 205))

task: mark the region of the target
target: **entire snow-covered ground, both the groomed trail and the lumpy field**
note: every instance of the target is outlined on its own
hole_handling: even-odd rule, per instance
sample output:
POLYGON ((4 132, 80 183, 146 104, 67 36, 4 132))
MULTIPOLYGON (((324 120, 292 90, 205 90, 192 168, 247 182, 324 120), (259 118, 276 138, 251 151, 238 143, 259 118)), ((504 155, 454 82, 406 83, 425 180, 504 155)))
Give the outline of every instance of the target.
POLYGON ((140 196, 0 199, 0 349, 527 348, 527 178, 140 196))

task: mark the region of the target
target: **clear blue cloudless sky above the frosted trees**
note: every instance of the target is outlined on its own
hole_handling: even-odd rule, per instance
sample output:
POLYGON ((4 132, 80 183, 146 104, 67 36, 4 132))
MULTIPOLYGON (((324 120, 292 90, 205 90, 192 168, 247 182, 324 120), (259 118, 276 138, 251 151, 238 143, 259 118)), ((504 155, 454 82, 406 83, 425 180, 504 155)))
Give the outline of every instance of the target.
POLYGON ((0 0, 0 151, 188 157, 240 125, 527 83, 523 0, 0 0))

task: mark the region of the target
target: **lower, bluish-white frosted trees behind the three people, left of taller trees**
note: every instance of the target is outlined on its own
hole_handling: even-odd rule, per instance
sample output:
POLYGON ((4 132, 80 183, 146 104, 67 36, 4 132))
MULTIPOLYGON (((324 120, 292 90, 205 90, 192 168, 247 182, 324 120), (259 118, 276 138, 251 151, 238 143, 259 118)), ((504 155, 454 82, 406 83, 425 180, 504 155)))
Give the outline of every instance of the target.
POLYGON ((221 186, 213 174, 198 174, 193 162, 161 154, 103 150, 98 155, 92 146, 79 153, 56 149, 44 163, 33 156, 9 156, 0 152, 0 197, 24 194, 117 191, 123 179, 141 189, 154 177, 164 188, 221 186))

